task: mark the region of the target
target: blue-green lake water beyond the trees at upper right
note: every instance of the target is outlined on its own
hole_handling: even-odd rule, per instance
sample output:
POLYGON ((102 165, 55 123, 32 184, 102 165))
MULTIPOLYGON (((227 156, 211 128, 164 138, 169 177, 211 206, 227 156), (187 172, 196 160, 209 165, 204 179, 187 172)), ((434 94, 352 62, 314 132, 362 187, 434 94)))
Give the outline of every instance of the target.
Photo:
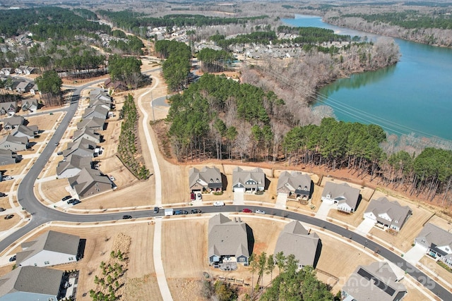
MULTIPOLYGON (((314 16, 283 21, 378 38, 323 23, 314 16)), ((395 40, 402 54, 396 66, 336 80, 319 90, 313 105, 331 106, 340 121, 375 123, 398 135, 415 133, 452 140, 452 49, 395 40)))

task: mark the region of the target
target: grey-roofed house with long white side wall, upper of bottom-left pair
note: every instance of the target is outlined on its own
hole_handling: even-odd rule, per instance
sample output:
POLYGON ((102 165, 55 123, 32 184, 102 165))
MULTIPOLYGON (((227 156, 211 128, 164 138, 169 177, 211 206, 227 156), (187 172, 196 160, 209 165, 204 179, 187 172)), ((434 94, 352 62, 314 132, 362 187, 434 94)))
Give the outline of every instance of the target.
POLYGON ((24 242, 22 252, 16 254, 18 266, 54 266, 76 262, 80 238, 76 235, 47 231, 36 240, 24 242))

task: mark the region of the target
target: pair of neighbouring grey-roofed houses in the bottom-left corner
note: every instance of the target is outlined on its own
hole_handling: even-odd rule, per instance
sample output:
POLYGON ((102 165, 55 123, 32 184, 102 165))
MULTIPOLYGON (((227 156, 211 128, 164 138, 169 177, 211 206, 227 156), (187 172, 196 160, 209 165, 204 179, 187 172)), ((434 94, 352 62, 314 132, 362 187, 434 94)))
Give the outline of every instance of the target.
POLYGON ((78 273, 49 266, 77 262, 86 241, 76 235, 47 231, 23 242, 16 254, 16 269, 0 277, 0 300, 72 300, 78 273))

